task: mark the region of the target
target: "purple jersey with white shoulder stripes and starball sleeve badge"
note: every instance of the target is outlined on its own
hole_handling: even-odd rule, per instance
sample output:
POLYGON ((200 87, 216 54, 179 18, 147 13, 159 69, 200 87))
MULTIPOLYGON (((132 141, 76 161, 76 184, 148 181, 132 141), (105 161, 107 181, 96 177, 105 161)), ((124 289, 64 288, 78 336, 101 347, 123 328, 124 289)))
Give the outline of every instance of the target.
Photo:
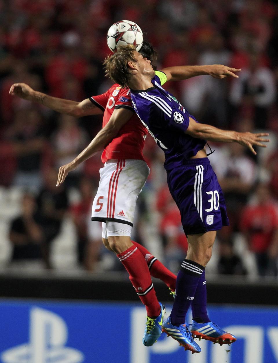
POLYGON ((202 150, 206 140, 185 134, 189 125, 189 115, 181 103, 160 84, 160 79, 152 79, 153 87, 147 90, 131 90, 135 112, 146 126, 156 143, 165 153, 166 170, 183 165, 202 150))

